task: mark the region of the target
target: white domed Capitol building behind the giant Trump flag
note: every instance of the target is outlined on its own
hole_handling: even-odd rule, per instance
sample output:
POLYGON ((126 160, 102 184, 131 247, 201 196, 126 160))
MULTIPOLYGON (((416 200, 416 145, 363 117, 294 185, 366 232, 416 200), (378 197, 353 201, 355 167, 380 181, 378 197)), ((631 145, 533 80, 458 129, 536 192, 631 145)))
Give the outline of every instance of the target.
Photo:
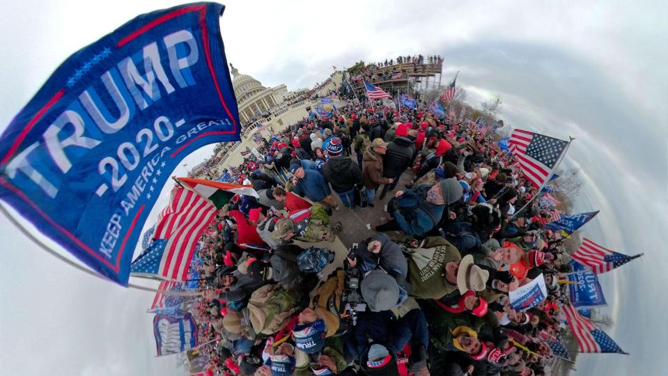
POLYGON ((237 68, 230 64, 232 73, 232 88, 237 97, 239 118, 241 123, 248 123, 258 114, 266 113, 274 107, 283 104, 283 98, 288 95, 285 84, 273 88, 265 88, 260 81, 249 75, 242 75, 237 68))

